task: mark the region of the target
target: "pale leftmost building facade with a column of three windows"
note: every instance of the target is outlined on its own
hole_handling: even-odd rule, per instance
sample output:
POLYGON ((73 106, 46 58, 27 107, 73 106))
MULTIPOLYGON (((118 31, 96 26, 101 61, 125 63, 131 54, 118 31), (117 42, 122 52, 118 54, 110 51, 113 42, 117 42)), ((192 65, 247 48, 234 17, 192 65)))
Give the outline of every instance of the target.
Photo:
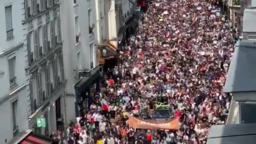
POLYGON ((21 25, 22 3, 3 0, 0 6, 0 143, 8 143, 28 128, 27 50, 21 25))

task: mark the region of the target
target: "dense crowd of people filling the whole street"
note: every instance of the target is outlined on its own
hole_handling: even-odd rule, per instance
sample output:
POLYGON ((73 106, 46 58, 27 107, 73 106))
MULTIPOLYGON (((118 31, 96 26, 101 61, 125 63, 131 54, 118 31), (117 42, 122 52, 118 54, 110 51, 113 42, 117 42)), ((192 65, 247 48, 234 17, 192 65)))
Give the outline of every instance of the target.
POLYGON ((222 93, 236 30, 215 2, 158 0, 149 3, 138 34, 129 38, 121 65, 106 81, 90 110, 70 123, 68 144, 200 144, 211 125, 224 124, 231 95, 222 93), (131 129, 129 116, 154 109, 167 97, 178 131, 131 129))

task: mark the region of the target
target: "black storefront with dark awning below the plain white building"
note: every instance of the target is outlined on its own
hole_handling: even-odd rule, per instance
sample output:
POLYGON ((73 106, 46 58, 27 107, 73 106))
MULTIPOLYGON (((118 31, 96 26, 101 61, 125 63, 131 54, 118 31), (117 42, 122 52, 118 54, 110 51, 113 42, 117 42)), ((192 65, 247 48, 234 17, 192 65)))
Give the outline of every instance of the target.
POLYGON ((100 92, 102 67, 97 66, 90 71, 81 73, 82 79, 75 84, 76 116, 83 115, 88 110, 94 99, 94 95, 100 92))

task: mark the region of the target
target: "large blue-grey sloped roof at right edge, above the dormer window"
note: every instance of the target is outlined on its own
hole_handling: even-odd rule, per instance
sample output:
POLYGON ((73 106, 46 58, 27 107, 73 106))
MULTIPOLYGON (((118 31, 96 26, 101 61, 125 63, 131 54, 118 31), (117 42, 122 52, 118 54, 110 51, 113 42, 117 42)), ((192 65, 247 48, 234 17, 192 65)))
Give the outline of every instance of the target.
POLYGON ((231 58, 223 92, 256 91, 256 41, 239 41, 231 58))

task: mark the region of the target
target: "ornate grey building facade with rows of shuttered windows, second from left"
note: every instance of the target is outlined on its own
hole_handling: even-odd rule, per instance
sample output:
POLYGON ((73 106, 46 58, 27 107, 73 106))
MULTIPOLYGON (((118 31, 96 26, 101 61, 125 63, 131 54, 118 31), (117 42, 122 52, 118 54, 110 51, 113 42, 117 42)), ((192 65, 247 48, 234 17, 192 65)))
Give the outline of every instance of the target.
POLYGON ((65 75, 59 0, 24 0, 22 26, 29 76, 28 129, 49 135, 65 123, 65 75), (45 127, 37 119, 45 118, 45 127))

